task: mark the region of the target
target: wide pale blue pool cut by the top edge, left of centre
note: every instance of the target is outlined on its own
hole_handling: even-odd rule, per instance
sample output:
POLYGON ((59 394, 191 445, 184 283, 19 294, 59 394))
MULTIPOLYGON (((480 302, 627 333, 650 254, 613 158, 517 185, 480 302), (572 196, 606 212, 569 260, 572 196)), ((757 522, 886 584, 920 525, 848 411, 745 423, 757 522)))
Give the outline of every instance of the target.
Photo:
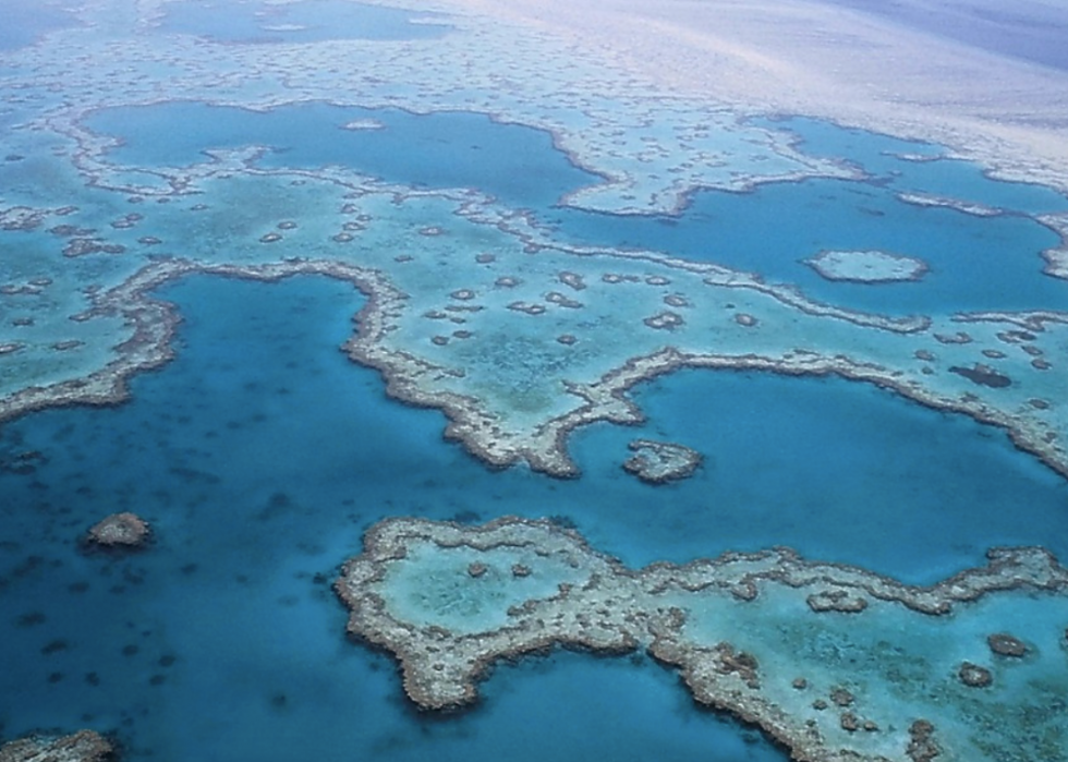
MULTIPOLYGON (((441 17, 435 13, 418 15, 441 17)), ((263 0, 184 0, 165 7, 157 28, 165 34, 242 44, 433 39, 448 32, 448 26, 414 24, 412 19, 412 13, 399 8, 348 0, 302 0, 283 4, 263 0)))

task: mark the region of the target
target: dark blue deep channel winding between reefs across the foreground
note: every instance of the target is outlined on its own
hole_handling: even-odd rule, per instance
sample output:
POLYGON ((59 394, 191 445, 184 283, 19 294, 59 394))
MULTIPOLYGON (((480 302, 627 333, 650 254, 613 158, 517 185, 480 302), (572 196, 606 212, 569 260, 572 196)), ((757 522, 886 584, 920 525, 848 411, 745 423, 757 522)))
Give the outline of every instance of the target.
POLYGON ((195 277, 162 295, 185 316, 178 358, 129 402, 0 431, 0 642, 20 654, 0 670, 3 737, 113 728, 141 762, 784 762, 645 660, 527 660, 496 670, 475 711, 420 716, 391 661, 345 640, 330 583, 393 515, 563 515, 630 565, 785 543, 930 582, 994 544, 1068 557, 1064 480, 1000 432, 869 386, 667 377, 636 394, 645 427, 578 433, 585 473, 561 482, 491 472, 442 442, 440 413, 388 400, 338 351, 361 305, 350 286, 195 277), (619 468, 634 436, 706 465, 642 485, 619 468), (148 519, 155 544, 80 553, 117 510, 148 519))

